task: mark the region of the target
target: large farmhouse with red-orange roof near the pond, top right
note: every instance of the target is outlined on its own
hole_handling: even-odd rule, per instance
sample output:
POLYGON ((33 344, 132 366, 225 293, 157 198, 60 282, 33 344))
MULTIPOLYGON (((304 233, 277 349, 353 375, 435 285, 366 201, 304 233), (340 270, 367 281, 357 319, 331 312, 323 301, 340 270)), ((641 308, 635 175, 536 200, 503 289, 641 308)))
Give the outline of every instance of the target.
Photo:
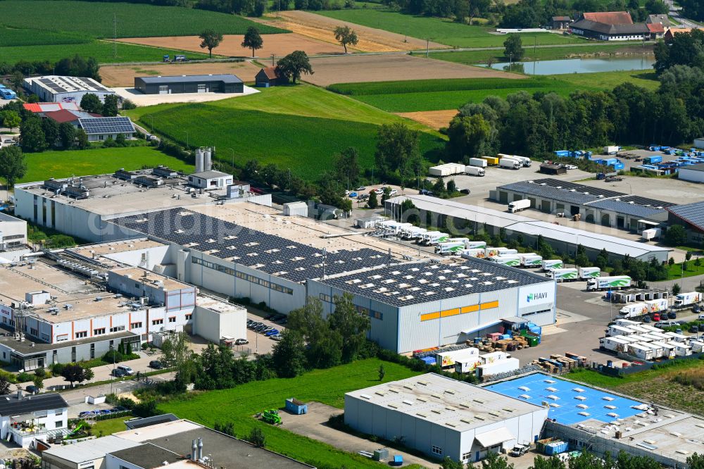
POLYGON ((650 37, 645 23, 633 23, 627 11, 582 13, 579 20, 570 25, 572 34, 598 39, 599 41, 631 41, 650 37))

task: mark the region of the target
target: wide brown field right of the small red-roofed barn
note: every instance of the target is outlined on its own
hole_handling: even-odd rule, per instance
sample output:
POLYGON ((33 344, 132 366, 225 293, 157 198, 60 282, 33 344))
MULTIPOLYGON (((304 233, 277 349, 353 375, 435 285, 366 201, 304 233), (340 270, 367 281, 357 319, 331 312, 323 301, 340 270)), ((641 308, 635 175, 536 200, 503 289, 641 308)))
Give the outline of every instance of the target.
POLYGON ((385 82, 393 80, 427 80, 429 78, 524 78, 461 63, 438 61, 406 54, 350 55, 310 59, 313 75, 303 80, 325 87, 333 83, 385 82))

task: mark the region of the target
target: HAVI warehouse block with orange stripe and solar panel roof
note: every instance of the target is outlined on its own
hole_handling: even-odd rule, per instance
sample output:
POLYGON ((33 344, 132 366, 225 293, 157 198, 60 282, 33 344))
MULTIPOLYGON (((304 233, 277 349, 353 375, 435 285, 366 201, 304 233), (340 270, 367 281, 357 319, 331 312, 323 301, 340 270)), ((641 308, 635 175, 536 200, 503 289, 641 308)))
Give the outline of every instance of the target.
POLYGON ((555 282, 481 259, 458 263, 402 263, 308 280, 308 296, 323 311, 334 297, 352 295, 371 318, 370 339, 399 354, 457 344, 497 332, 506 318, 555 323, 555 282))

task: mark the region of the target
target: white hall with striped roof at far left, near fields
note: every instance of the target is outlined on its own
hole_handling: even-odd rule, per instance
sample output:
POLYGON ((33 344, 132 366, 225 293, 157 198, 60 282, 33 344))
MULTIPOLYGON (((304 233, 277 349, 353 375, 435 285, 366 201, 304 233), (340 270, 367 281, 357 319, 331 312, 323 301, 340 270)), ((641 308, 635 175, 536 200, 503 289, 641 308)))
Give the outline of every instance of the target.
POLYGON ((47 75, 44 77, 25 78, 25 88, 30 94, 36 94, 39 99, 51 103, 81 102, 86 94, 95 94, 101 101, 105 96, 115 92, 104 87, 96 80, 88 77, 62 77, 47 75))

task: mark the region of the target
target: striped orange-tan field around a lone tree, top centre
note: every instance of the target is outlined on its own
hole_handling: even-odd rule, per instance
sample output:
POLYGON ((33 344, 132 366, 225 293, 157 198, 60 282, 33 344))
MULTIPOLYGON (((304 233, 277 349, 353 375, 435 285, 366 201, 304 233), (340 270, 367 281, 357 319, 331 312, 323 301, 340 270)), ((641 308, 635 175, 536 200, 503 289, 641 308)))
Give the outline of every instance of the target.
MULTIPOLYGON (((327 18, 326 16, 316 15, 308 11, 282 11, 276 15, 263 18, 260 21, 272 26, 285 28, 298 33, 298 35, 328 42, 329 44, 336 44, 338 51, 341 51, 341 46, 337 44, 337 40, 332 34, 332 30, 337 26, 350 26, 357 32, 360 39, 359 44, 355 46, 355 49, 350 50, 364 52, 396 52, 425 49, 426 46, 425 41, 422 39, 406 37, 404 35, 398 35, 395 32, 377 30, 374 27, 356 25, 334 18, 327 18)), ((430 48, 447 49, 448 46, 431 42, 430 48)))

